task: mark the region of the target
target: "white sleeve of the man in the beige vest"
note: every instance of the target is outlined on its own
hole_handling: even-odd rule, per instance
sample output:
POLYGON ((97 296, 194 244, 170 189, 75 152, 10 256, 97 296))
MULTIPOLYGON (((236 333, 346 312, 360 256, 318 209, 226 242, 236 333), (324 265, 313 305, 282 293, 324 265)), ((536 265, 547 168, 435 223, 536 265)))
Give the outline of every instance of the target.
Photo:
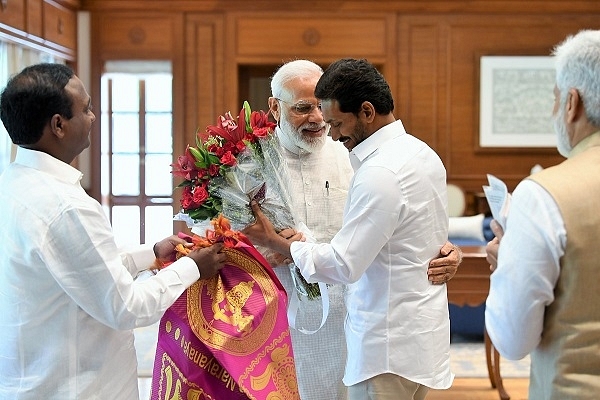
POLYGON ((510 203, 485 310, 487 332, 502 356, 521 359, 540 342, 566 240, 554 199, 536 182, 521 182, 510 203))

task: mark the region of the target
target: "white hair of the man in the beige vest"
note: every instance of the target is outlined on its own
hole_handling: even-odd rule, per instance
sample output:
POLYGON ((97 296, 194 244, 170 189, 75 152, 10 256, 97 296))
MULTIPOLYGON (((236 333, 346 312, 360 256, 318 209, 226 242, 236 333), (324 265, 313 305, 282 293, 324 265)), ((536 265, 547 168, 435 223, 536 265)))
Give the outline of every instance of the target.
POLYGON ((561 100, 569 89, 579 92, 590 123, 600 127, 600 30, 582 30, 553 50, 556 86, 561 100))

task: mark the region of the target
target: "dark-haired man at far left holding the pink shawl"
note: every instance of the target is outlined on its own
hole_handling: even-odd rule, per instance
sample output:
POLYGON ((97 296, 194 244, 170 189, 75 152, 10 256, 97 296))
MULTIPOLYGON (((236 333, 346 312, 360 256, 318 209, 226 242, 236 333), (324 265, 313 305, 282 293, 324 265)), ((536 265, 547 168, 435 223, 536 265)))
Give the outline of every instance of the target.
POLYGON ((102 207, 69 165, 96 119, 70 68, 25 68, 3 90, 0 117, 19 146, 0 176, 0 398, 137 399, 132 329, 214 276, 222 245, 134 281, 184 241, 117 249, 102 207))

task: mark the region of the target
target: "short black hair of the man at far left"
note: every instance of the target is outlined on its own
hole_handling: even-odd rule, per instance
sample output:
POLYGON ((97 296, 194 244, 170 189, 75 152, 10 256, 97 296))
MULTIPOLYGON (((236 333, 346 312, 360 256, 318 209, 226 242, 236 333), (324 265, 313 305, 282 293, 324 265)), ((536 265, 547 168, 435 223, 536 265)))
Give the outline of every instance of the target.
POLYGON ((0 95, 0 119, 14 144, 34 144, 53 115, 73 117, 73 100, 65 90, 75 75, 66 65, 43 63, 11 77, 0 95))

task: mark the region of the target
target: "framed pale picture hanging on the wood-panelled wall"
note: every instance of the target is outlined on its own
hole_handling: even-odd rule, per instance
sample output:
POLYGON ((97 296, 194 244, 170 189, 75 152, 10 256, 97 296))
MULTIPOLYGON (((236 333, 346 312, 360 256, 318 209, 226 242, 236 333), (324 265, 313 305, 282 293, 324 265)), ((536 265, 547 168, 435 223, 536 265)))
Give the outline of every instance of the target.
POLYGON ((556 147, 550 56, 483 56, 480 147, 556 147))

